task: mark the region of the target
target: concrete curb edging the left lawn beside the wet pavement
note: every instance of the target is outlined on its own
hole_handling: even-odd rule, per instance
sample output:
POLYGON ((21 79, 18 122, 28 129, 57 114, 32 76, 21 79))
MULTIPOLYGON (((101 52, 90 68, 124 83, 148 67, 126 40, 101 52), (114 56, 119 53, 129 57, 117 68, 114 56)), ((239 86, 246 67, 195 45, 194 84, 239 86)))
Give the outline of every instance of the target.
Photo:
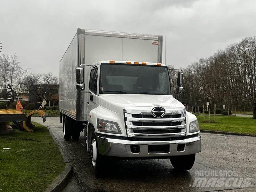
POLYGON ((48 186, 48 188, 45 189, 44 192, 58 192, 58 191, 61 191, 62 189, 64 189, 66 187, 66 185, 68 183, 68 180, 72 176, 72 164, 69 163, 68 157, 65 155, 65 153, 61 149, 59 142, 54 137, 51 130, 49 128, 47 128, 47 129, 49 130, 50 134, 52 135, 53 140, 57 144, 57 146, 60 150, 60 153, 63 157, 63 160, 66 163, 66 166, 65 166, 65 170, 59 174, 57 179, 55 179, 52 182, 52 184, 50 186, 48 186))

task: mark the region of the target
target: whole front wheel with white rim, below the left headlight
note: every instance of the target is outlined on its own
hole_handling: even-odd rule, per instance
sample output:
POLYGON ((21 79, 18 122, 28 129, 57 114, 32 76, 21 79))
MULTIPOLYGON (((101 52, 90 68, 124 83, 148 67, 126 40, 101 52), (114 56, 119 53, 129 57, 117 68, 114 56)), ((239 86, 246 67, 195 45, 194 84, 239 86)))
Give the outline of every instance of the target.
POLYGON ((92 139, 90 143, 90 160, 91 160, 91 167, 92 167, 92 173, 95 176, 100 176, 101 168, 102 168, 102 155, 100 155, 98 150, 98 142, 97 142, 97 136, 95 132, 92 132, 92 139))

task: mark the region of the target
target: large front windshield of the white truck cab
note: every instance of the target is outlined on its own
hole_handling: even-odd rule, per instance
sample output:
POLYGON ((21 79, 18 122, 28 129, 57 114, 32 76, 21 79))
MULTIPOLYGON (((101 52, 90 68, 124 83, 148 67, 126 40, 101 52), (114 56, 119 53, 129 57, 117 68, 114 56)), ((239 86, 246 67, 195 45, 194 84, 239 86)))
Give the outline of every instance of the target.
POLYGON ((170 95, 167 67, 102 64, 100 93, 170 95))

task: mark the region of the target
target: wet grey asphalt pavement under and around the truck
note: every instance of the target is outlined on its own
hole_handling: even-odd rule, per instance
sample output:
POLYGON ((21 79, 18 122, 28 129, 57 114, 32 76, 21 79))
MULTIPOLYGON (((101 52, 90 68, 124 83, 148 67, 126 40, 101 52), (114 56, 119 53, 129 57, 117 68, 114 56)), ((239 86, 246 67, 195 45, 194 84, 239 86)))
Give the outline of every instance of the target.
MULTIPOLYGON (((32 121, 42 124, 41 117, 32 117, 32 121)), ((169 159, 109 159, 105 176, 96 178, 91 173, 83 133, 79 141, 65 141, 60 117, 47 117, 43 125, 52 131, 73 166, 74 177, 63 191, 256 191, 256 137, 200 133, 202 152, 196 154, 188 172, 176 172, 169 159), (210 175, 202 175, 204 171, 210 171, 210 175), (196 178, 205 178, 208 186, 193 187, 196 178), (209 179, 215 178, 227 182, 220 187, 209 185, 209 179)))

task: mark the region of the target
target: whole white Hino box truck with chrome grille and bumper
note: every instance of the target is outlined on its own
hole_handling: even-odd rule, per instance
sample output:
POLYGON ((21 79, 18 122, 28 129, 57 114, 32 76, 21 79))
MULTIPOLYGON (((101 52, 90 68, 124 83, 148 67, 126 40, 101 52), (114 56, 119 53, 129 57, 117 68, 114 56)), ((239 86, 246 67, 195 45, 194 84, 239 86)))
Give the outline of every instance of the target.
MULTIPOLYGON (((182 81, 179 72, 178 92, 182 81)), ((193 166, 201 151, 198 121, 172 95, 162 36, 78 28, 60 60, 64 139, 84 132, 95 175, 107 156, 193 166)))

